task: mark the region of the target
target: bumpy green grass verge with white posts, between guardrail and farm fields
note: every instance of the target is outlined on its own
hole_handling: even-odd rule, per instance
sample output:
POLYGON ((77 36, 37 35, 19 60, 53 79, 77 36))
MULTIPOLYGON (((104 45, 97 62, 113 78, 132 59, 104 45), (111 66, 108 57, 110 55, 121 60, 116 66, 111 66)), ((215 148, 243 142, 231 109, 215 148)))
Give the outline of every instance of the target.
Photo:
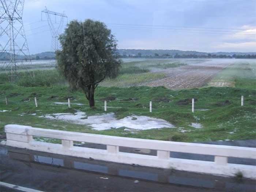
MULTIPOLYGON (((66 86, 21 87, 14 84, 0 84, 1 133, 6 124, 30 125, 33 127, 77 131, 103 135, 115 135, 133 138, 199 142, 213 140, 243 140, 256 137, 256 91, 233 87, 206 87, 173 91, 165 87, 98 87, 95 92, 96 109, 90 109, 82 91, 69 92, 66 86), (15 94, 17 93, 17 94, 15 94), (16 95, 16 96, 15 96, 16 95), (244 95, 243 107, 240 97, 244 95), (5 96, 9 105, 5 105, 5 96), (38 108, 34 105, 34 96, 38 98, 38 108), (52 97, 58 96, 58 97, 52 97), (54 102, 67 102, 67 97, 74 97, 76 103, 84 106, 56 105, 54 102), (176 128, 150 129, 135 134, 123 131, 124 128, 95 131, 86 125, 77 125, 58 120, 40 118, 43 114, 74 113, 76 110, 87 115, 102 114, 103 100, 114 96, 117 99, 108 102, 108 112, 114 112, 117 118, 132 114, 163 118, 176 125, 176 128), (191 113, 191 104, 178 105, 180 99, 195 97, 195 113, 191 113), (30 101, 23 102, 29 98, 30 101), (129 98, 134 98, 130 99, 129 98), (158 102, 158 98, 168 98, 170 102, 158 102), (219 105, 229 99, 229 105, 219 105), (149 101, 153 101, 153 113, 149 113, 149 101), (121 107, 121 108, 117 108, 121 107), (206 111, 199 109, 208 109, 206 111), (31 115, 36 113, 36 115, 31 115), (20 116, 20 115, 23 116, 20 116), (196 129, 191 123, 200 123, 204 128, 196 129), (180 132, 180 129, 187 132, 180 132)), ((161 100, 161 99, 159 99, 161 100)))

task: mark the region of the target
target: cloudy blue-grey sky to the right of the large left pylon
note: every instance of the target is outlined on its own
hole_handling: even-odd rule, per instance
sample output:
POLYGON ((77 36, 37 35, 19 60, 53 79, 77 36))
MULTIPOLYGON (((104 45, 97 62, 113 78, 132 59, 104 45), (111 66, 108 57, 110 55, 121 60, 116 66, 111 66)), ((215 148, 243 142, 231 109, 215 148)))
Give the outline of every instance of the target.
POLYGON ((40 21, 45 6, 64 11, 68 21, 106 23, 118 48, 256 51, 256 0, 25 0, 23 22, 33 54, 51 50, 50 28, 40 21))

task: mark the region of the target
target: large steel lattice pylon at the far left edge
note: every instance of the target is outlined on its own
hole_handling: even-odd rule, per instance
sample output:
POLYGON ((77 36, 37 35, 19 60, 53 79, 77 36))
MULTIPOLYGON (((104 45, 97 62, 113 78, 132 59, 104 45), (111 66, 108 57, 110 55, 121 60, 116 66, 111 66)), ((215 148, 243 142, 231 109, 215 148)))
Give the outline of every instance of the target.
MULTIPOLYGON (((26 64, 32 64, 22 21, 24 0, 0 1, 0 56, 5 57, 0 69, 13 82, 19 69, 27 71, 26 64)), ((34 77, 33 71, 28 74, 34 77)))

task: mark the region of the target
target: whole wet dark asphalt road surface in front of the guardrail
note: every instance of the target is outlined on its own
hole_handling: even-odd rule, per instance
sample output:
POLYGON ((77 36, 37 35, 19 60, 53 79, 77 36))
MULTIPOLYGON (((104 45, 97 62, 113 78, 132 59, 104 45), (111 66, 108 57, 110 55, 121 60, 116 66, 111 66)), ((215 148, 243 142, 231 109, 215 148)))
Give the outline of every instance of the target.
MULTIPOLYGON (((1 182, 41 191, 255 191, 255 181, 1 146, 1 182)), ((1 191, 15 191, 1 187, 1 191)))

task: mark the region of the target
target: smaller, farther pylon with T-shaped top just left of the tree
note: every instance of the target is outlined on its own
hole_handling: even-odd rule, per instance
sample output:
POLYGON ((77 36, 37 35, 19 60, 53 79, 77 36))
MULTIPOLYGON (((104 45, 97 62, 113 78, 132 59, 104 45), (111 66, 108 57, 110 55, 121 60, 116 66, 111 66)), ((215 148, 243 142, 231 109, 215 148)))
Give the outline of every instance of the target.
POLYGON ((60 49, 59 35, 61 34, 61 30, 63 28, 64 19, 68 17, 67 15, 65 15, 64 12, 57 13, 57 12, 49 11, 45 7, 45 10, 41 11, 41 20, 42 20, 43 13, 46 14, 47 21, 50 26, 50 31, 52 34, 52 50, 56 52, 56 50, 60 49), (53 16, 54 18, 52 18, 51 16, 53 16), (59 23, 59 25, 54 25, 54 23, 59 23))

